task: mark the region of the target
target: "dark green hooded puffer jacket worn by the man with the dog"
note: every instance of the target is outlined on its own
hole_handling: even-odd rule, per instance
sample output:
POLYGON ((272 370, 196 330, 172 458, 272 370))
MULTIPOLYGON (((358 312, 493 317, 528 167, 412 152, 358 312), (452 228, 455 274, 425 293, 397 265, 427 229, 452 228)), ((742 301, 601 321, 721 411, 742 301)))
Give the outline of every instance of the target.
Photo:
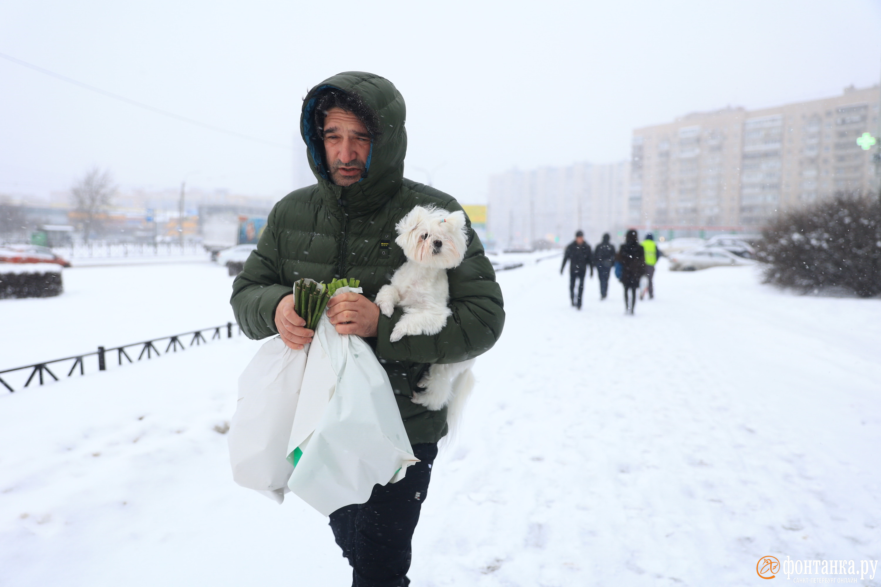
MULTIPOLYGON (((270 212, 266 228, 245 268, 233 282, 231 303, 242 331, 252 339, 278 334, 275 310, 293 282, 309 277, 361 281, 374 299, 406 260, 395 243, 395 224, 414 206, 462 207, 443 192, 403 177, 407 151, 403 97, 389 80, 347 71, 323 81, 303 100, 300 133, 318 183, 287 194, 270 212), (371 144, 366 177, 348 187, 329 180, 323 145, 313 139, 316 94, 325 88, 356 92, 374 109, 381 136, 371 144)), ((468 224, 469 246, 462 264, 448 270, 453 315, 441 333, 405 336, 389 342, 401 309, 380 314, 378 334, 366 339, 389 373, 411 444, 437 442, 447 433, 447 410, 428 410, 411 401, 431 363, 458 363, 491 349, 505 322, 499 284, 480 239, 468 224)))

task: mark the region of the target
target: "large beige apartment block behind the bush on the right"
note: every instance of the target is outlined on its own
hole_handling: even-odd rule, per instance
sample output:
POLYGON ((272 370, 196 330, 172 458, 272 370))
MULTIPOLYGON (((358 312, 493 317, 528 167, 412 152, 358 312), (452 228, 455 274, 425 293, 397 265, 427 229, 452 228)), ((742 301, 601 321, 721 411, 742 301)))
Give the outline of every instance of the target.
POLYGON ((878 86, 787 106, 687 114, 633 131, 627 221, 669 236, 755 232, 778 210, 877 189, 878 86))

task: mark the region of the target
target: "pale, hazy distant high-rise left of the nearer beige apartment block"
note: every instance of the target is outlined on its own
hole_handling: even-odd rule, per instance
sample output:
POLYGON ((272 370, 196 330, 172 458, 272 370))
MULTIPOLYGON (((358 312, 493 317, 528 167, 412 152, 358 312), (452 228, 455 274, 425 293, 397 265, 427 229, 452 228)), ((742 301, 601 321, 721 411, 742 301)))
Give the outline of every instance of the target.
POLYGON ((566 243, 574 232, 589 242, 617 234, 626 222, 626 161, 607 165, 512 170, 490 178, 486 239, 499 249, 566 243))

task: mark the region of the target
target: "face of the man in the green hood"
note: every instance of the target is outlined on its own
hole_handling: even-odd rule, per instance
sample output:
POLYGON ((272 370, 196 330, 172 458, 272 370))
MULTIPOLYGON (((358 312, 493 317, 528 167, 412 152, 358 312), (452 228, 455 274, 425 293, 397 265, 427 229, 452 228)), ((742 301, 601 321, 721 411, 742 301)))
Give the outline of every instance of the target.
POLYGON ((370 154, 370 134, 358 116, 342 108, 330 108, 324 116, 324 155, 330 179, 337 186, 358 181, 370 154))

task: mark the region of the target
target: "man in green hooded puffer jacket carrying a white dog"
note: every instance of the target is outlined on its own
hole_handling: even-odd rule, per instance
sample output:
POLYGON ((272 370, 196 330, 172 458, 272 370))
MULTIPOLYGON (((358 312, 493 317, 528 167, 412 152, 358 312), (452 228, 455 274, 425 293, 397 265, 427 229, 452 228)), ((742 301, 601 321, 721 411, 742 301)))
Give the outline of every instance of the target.
POLYGON ((330 515, 330 526, 353 569, 353 585, 407 585, 411 536, 426 498, 447 410, 411 401, 431 363, 457 363, 484 353, 505 321, 495 273, 470 229, 462 264, 448 271, 453 312, 441 333, 389 341, 401 317, 388 318, 373 299, 406 260, 395 224, 414 206, 462 207, 441 191, 403 177, 405 106, 383 77, 348 71, 323 81, 303 100, 300 132, 318 183, 288 194, 270 212, 263 236, 233 282, 235 317, 248 337, 281 334, 301 348, 312 331, 293 312, 292 284, 301 277, 360 280, 364 295, 343 294, 328 316, 342 334, 371 344, 389 373, 404 428, 420 462, 403 481, 375 486, 366 503, 330 515))

